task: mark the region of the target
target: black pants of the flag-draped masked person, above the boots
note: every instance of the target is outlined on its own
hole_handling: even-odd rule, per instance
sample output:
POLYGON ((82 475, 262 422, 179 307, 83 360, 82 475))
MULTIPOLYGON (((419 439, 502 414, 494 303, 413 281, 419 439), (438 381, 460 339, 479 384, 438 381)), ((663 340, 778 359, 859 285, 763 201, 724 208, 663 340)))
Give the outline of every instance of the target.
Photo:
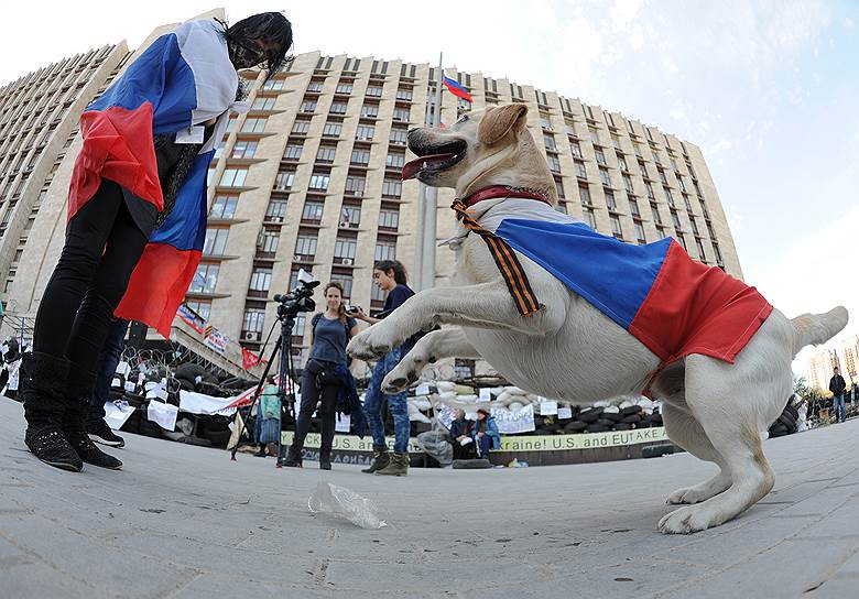
POLYGON ((146 246, 122 189, 102 179, 66 227, 66 242, 36 314, 33 350, 93 372, 113 311, 146 246))

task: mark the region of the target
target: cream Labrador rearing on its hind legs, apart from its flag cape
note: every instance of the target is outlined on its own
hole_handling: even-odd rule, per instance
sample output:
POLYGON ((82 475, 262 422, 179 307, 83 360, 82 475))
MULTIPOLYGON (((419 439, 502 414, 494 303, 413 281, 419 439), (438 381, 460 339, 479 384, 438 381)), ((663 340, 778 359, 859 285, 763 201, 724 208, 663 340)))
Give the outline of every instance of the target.
MULTIPOLYGON (((511 193, 520 197, 477 202, 468 215, 487 228, 499 214, 572 221, 551 209, 555 186, 525 127, 526 111, 524 105, 499 106, 464 116, 446 129, 410 131, 409 148, 420 159, 406 165, 404 178, 452 187, 458 198, 505 186, 547 199, 511 193)), ((711 479, 668 495, 668 503, 687 505, 665 515, 660 531, 692 533, 718 526, 770 492, 774 473, 763 455, 760 431, 779 417, 792 392, 793 358, 804 346, 822 344, 842 329, 844 307, 791 320, 769 306, 771 312, 760 318, 733 363, 692 353, 666 364, 545 268, 517 252, 540 302, 535 312, 523 316, 511 300, 500 263, 474 233, 460 226, 452 243, 455 286, 416 294, 349 344, 351 356, 370 359, 421 329, 455 325, 424 336, 385 378, 385 392, 405 388, 426 364, 448 357, 481 357, 531 393, 579 404, 641 393, 650 385, 653 396, 663 400, 668 437, 719 467, 711 479)))

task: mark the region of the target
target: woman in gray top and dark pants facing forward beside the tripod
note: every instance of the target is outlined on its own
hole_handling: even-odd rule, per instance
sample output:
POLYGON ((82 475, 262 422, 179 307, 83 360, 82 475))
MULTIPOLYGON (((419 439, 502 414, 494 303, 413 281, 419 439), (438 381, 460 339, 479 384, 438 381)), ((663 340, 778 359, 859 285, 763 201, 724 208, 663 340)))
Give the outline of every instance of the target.
POLYGON ((302 466, 304 438, 311 428, 311 416, 319 406, 322 445, 319 447, 319 468, 331 469, 331 444, 334 443, 334 417, 337 397, 342 381, 336 373, 338 367, 345 367, 346 345, 358 334, 358 323, 346 315, 342 302, 342 285, 328 283, 325 287, 325 312, 314 315, 311 320, 313 337, 311 356, 302 373, 302 403, 295 421, 295 437, 286 454, 284 464, 302 466))

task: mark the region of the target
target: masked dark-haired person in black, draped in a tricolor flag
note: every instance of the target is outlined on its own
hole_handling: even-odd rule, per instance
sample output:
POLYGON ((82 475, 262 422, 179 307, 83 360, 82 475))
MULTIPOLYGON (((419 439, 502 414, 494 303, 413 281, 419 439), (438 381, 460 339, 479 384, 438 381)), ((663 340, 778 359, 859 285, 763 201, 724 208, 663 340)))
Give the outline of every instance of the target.
POLYGON ((111 319, 168 336, 202 255, 215 146, 230 112, 247 110, 237 70, 264 65, 271 77, 291 47, 281 13, 232 26, 188 21, 152 42, 81 115, 65 246, 21 368, 24 442, 42 461, 72 471, 122 466, 84 424, 111 319))

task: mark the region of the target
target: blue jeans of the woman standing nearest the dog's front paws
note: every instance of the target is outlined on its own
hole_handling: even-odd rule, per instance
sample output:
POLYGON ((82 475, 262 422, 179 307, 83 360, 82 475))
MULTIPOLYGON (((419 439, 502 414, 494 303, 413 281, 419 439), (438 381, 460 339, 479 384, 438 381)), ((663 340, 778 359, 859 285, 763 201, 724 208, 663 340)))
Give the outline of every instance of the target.
MULTIPOLYGON (((367 394, 363 399, 363 413, 367 416, 367 424, 370 427, 370 434, 373 437, 373 445, 381 447, 388 445, 384 439, 384 423, 382 422, 382 381, 385 375, 400 363, 400 360, 409 353, 412 346, 409 341, 393 348, 385 353, 382 359, 376 363, 370 384, 367 386, 367 394)), ((385 395, 388 397, 388 410, 394 420, 394 451, 406 454, 409 451, 409 433, 411 423, 409 422, 409 409, 406 406, 405 391, 395 395, 385 395)))

